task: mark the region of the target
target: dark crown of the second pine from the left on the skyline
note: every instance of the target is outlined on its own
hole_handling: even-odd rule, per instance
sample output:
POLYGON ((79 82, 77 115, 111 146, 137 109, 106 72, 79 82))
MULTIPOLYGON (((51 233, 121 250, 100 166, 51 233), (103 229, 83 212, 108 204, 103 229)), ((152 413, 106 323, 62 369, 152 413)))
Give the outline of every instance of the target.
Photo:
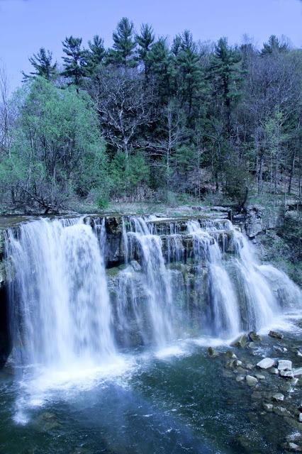
POLYGON ((86 51, 81 48, 82 38, 69 36, 63 41, 64 71, 62 75, 72 80, 72 83, 79 87, 82 78, 86 74, 86 51))

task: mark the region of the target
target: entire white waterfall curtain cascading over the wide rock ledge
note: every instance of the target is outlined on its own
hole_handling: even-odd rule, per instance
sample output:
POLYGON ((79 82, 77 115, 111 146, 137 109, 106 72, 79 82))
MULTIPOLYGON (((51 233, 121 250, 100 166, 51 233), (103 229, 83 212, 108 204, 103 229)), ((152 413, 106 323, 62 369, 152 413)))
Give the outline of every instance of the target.
POLYGON ((300 289, 259 264, 230 221, 162 224, 155 216, 123 218, 124 265, 113 280, 105 218, 40 219, 8 231, 17 363, 100 364, 137 345, 230 339, 301 307, 300 289))

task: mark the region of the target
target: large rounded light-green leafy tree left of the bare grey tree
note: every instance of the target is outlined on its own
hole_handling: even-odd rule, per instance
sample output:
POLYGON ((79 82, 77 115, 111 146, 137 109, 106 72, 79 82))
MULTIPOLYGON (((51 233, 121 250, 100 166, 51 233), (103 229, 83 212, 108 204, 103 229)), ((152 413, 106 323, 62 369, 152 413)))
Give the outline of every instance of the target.
POLYGON ((15 201, 46 210, 74 190, 106 187, 104 143, 89 96, 38 77, 22 98, 12 154, 1 162, 2 189, 8 183, 15 201))

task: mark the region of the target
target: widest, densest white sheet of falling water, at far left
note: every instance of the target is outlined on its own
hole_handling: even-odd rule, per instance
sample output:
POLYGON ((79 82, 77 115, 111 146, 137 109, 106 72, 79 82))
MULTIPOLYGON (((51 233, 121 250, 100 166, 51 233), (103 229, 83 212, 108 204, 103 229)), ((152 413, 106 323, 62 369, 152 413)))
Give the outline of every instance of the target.
POLYGON ((102 362, 115 352, 104 261, 81 219, 41 219, 8 231, 17 361, 102 362))

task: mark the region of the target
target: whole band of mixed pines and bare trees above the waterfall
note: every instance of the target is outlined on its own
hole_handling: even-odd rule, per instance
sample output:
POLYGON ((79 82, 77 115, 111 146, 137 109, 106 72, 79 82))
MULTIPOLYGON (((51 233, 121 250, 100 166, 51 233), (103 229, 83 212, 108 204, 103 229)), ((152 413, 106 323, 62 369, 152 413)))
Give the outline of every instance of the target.
POLYGON ((40 48, 9 99, 0 74, 2 202, 45 211, 71 201, 169 201, 301 194, 302 50, 172 43, 122 18, 113 47, 65 38, 40 48))

